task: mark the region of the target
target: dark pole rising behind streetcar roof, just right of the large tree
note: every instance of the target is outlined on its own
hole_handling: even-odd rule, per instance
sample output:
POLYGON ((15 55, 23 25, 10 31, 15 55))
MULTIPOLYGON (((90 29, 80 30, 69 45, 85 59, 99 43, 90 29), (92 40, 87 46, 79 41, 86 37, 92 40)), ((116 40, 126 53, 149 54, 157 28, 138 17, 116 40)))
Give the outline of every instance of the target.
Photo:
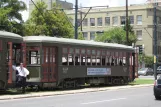
POLYGON ((75 0, 75 39, 78 38, 78 0, 75 0))

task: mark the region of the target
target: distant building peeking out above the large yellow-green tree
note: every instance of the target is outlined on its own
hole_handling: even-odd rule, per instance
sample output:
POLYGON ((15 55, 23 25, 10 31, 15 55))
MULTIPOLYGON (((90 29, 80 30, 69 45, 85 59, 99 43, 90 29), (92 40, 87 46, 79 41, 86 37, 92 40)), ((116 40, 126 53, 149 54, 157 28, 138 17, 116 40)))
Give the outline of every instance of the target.
MULTIPOLYGON (((52 4, 56 3, 57 5, 60 5, 61 8, 63 9, 71 9, 73 8, 73 4, 66 2, 66 1, 61 1, 61 0, 33 0, 34 3, 38 2, 38 1, 43 1, 47 4, 47 9, 51 10, 52 8, 52 4)), ((33 4, 33 2, 30 0, 29 1, 29 17, 31 16, 31 12, 34 10, 35 5, 33 4)))

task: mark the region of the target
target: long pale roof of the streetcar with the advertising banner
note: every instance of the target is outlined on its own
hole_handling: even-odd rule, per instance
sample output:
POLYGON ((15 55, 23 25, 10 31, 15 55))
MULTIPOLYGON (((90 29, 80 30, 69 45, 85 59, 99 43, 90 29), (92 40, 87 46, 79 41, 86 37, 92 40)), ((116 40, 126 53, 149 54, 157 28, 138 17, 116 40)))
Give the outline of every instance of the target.
POLYGON ((111 47, 120 49, 130 49, 134 50, 132 46, 117 44, 117 43, 103 43, 89 40, 76 40, 69 38, 57 38, 49 36, 26 36, 23 37, 24 41, 29 42, 45 42, 45 43, 61 43, 61 44, 76 44, 76 45, 86 45, 86 46, 97 46, 97 47, 111 47))

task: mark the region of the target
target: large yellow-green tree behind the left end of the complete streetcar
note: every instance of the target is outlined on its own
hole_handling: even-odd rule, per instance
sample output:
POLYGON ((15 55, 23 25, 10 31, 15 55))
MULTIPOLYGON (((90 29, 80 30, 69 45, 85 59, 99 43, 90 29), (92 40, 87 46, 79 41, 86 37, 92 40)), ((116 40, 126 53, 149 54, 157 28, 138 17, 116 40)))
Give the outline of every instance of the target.
POLYGON ((47 10, 44 2, 37 2, 37 8, 31 13, 31 18, 25 24, 25 35, 47 35, 64 38, 74 37, 74 28, 65 18, 63 10, 58 10, 53 4, 51 11, 47 10), (44 16, 44 17, 43 17, 44 16))

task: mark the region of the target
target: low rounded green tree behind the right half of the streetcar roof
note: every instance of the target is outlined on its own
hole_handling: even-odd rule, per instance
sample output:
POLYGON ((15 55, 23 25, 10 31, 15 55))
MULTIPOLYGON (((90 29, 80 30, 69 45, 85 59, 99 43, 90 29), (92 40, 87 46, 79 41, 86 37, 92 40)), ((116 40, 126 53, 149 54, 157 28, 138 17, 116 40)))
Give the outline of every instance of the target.
MULTIPOLYGON (((126 31, 121 27, 114 27, 102 34, 96 35, 96 41, 126 44, 126 31)), ((137 40, 135 34, 129 32, 129 43, 135 43, 137 40)))

